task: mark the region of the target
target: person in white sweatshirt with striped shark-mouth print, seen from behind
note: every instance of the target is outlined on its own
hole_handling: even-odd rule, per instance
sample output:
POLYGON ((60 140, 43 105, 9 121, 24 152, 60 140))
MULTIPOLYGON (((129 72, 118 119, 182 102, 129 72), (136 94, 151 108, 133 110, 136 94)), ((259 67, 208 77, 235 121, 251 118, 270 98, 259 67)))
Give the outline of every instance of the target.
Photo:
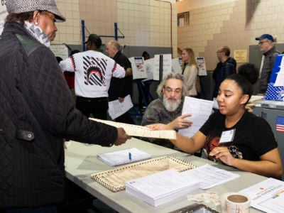
POLYGON ((85 116, 107 120, 109 109, 109 85, 111 77, 123 78, 126 75, 113 59, 100 52, 102 40, 90 34, 86 41, 87 51, 76 53, 62 60, 62 71, 75 72, 76 108, 85 116))

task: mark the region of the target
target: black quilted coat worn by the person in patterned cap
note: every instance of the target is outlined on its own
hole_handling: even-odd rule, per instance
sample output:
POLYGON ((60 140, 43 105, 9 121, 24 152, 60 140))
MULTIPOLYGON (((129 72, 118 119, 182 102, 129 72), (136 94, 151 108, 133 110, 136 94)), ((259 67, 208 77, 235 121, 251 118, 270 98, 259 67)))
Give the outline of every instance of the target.
POLYGON ((0 39, 0 102, 0 208, 62 202, 62 138, 110 146, 117 137, 75 109, 55 55, 19 23, 0 39))

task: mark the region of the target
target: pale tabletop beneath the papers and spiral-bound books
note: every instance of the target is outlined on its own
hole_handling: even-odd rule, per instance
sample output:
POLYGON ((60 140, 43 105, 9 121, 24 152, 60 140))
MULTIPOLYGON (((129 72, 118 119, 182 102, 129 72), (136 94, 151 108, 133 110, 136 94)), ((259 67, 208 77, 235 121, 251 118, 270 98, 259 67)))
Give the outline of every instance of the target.
MULTIPOLYGON (((226 170, 233 171, 240 175, 239 178, 231 180, 222 185, 217 185, 209 190, 197 190, 192 192, 192 194, 201 193, 205 191, 218 192, 221 196, 225 192, 238 192, 246 187, 256 184, 265 180, 266 177, 256 175, 253 173, 246 173, 244 171, 236 170, 225 165, 220 165, 209 161, 204 158, 198 158, 193 155, 188 155, 180 151, 175 151, 170 148, 165 148, 163 146, 157 146, 153 143, 148 143, 145 141, 138 140, 136 138, 131 138, 124 145, 113 146, 111 148, 102 147, 98 145, 89 145, 84 143, 77 143, 75 141, 65 142, 65 170, 66 177, 72 182, 82 187, 84 190, 92 194, 97 199, 101 200, 109 207, 115 209, 117 212, 171 212, 175 209, 180 209, 186 207, 194 202, 187 200, 187 196, 184 195, 166 204, 162 204, 158 207, 152 207, 151 205, 139 200, 132 195, 124 191, 121 192, 111 192, 106 187, 100 185, 98 182, 93 180, 90 175, 92 173, 101 172, 104 170, 112 169, 109 165, 103 163, 101 160, 97 159, 98 153, 105 153, 109 151, 115 151, 124 148, 136 147, 141 151, 146 151, 152 155, 152 158, 156 158, 163 155, 173 156, 185 160, 194 165, 200 166, 206 163, 217 166, 217 168, 223 168, 226 170)), ((203 203, 206 204, 206 203, 203 203)), ((214 204, 206 204, 212 209, 217 209, 220 211, 219 206, 215 207, 214 204)), ((251 208, 251 213, 261 212, 257 209, 251 208)))

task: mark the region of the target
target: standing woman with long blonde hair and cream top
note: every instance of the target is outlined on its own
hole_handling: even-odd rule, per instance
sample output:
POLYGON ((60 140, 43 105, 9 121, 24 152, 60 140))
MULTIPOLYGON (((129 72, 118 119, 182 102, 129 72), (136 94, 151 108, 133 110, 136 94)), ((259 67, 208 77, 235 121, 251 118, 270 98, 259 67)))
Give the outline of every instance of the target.
POLYGON ((196 82, 198 66, 195 60, 195 53, 191 48, 185 48, 182 50, 182 75, 185 79, 185 85, 187 88, 187 96, 196 97, 196 82))

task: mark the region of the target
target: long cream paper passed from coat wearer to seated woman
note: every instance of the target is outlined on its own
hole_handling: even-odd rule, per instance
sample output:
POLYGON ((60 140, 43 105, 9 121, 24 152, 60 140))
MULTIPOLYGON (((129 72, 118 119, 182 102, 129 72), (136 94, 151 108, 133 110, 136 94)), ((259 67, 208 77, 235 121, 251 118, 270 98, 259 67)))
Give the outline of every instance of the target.
POLYGON ((145 126, 138 126, 133 124, 124 124, 115 121, 93 119, 90 120, 108 124, 110 126, 115 126, 116 128, 122 127, 129 136, 139 136, 145 138, 165 138, 165 139, 176 139, 176 134, 174 130, 160 130, 153 131, 145 126))

